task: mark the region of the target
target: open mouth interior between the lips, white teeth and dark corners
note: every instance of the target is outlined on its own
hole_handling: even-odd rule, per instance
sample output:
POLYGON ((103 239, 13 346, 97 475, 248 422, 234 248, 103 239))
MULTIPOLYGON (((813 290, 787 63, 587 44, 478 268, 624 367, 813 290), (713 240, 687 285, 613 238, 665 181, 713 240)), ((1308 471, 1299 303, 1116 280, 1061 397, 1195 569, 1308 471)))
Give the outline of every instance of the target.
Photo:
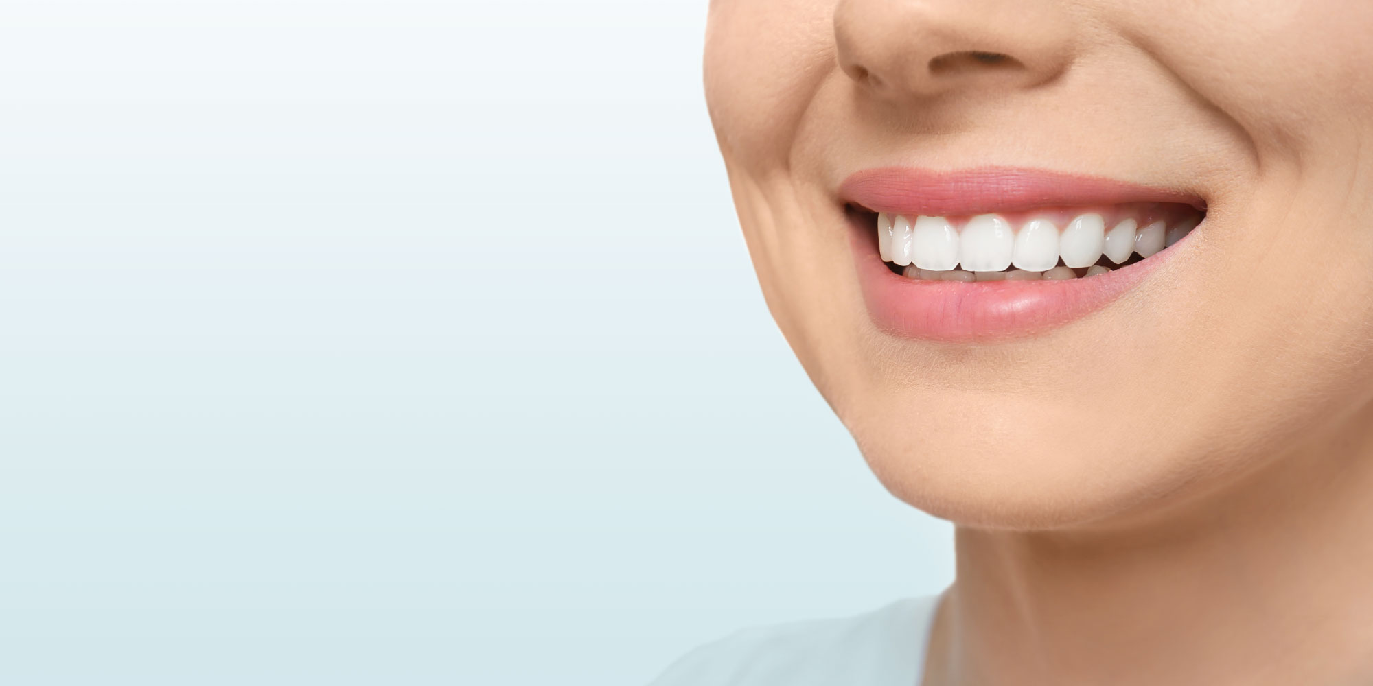
POLYGON ((1041 207, 976 215, 870 211, 877 254, 914 280, 1063 280, 1108 273, 1173 246, 1205 213, 1185 203, 1041 207))

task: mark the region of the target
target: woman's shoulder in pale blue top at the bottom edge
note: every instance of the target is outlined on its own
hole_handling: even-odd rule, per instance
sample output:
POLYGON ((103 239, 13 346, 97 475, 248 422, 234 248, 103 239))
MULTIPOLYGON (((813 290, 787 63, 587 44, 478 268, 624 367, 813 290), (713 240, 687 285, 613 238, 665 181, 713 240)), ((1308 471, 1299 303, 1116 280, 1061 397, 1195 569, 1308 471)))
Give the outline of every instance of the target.
POLYGON ((649 686, 811 686, 919 682, 939 597, 861 615, 754 627, 706 643, 649 686))

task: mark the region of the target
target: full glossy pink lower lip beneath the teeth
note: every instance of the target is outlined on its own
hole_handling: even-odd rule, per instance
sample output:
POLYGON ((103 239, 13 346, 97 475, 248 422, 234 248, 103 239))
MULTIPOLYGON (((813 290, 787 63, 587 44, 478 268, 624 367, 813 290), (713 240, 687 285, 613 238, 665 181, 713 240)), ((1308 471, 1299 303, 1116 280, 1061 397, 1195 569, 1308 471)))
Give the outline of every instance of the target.
MULTIPOLYGON (((1024 281, 935 281, 897 273, 877 255, 876 228, 854 218, 853 251, 868 314, 887 333, 976 343, 1043 333, 1101 310, 1174 252, 1104 274, 1024 281)), ((1184 239, 1186 240, 1186 239, 1184 239)))

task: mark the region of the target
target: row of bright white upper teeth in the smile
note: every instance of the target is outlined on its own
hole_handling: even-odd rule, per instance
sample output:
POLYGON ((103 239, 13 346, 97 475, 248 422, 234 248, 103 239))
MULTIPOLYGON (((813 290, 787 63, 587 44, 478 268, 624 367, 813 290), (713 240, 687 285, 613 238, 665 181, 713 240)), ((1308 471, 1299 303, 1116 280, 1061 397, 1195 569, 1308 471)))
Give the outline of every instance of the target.
POLYGON ((917 215, 910 221, 905 215, 877 213, 877 246, 883 261, 901 266, 995 272, 1015 265, 1043 272, 1053 269, 1059 258, 1070 268, 1085 268, 1101 255, 1118 265, 1133 252, 1149 257, 1197 224, 1197 217, 1188 217, 1171 228, 1164 220, 1141 228, 1137 218, 1124 217, 1107 226, 1100 213, 1082 213, 1063 230, 1045 217, 1034 217, 1017 230, 1000 214, 979 214, 958 230, 943 217, 917 215))

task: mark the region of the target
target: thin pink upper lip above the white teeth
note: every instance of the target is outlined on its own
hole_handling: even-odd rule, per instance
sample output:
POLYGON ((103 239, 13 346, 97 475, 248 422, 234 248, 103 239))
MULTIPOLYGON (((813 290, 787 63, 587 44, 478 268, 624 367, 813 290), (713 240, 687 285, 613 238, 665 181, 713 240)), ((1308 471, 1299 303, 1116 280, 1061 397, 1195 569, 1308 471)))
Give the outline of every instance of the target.
POLYGON ((1142 202, 1205 210, 1205 200, 1184 191, 1022 167, 865 169, 846 178, 839 195, 872 211, 939 217, 1142 202))

